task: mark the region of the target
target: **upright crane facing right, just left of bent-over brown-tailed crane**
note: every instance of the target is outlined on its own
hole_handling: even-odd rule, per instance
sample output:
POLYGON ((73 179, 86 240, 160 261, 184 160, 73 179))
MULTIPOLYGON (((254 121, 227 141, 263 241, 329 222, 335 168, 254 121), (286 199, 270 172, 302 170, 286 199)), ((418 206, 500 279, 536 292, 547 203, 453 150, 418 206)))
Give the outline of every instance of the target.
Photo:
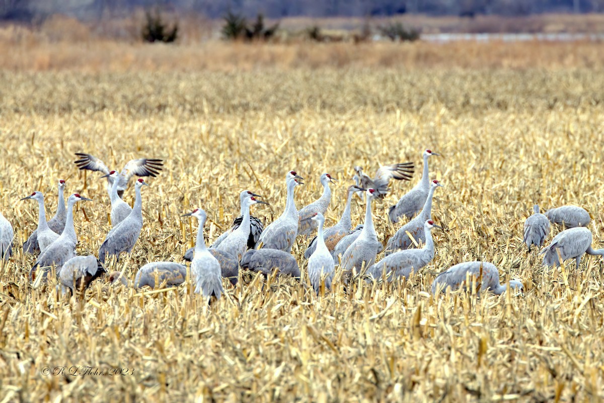
MULTIPOLYGON (((92 201, 92 199, 80 196, 77 193, 69 196, 67 200, 67 218, 65 221, 65 229, 53 243, 40 253, 36 262, 30 270, 30 279, 33 280, 37 269, 56 266, 57 274, 63 263, 67 262, 72 257, 76 257, 77 235, 74 227, 74 205, 79 201, 92 201)), ((45 278, 48 270, 43 271, 42 276, 45 278)))

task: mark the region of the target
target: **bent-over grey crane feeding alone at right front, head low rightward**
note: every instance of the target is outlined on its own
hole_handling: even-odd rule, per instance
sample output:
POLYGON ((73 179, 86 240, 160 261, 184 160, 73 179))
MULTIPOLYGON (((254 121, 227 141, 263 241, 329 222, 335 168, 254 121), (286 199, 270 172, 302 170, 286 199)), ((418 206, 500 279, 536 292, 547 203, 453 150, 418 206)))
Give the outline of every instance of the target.
POLYGON ((508 284, 500 285, 499 271, 489 262, 463 262, 451 266, 447 271, 443 271, 432 282, 432 294, 446 291, 451 288, 455 291, 460 288, 467 289, 472 282, 477 283, 481 290, 489 290, 494 294, 500 295, 507 288, 515 289, 522 293, 524 286, 518 280, 510 280, 508 284), (481 277, 482 276, 482 277, 481 277))

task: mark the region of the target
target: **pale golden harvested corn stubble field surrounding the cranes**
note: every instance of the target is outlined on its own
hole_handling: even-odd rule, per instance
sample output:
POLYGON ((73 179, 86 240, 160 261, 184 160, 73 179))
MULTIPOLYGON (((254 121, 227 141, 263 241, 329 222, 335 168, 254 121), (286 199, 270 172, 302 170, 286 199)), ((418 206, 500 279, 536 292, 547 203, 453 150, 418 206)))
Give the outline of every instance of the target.
MULTIPOLYGON (((535 203, 582 205, 594 247, 604 245, 604 74, 577 60, 522 69, 2 70, 0 211, 17 246, 0 263, 0 402, 600 401, 602 261, 543 269, 521 245, 535 203), (109 230, 104 179, 77 170, 75 152, 120 169, 130 158, 164 160, 143 189, 132 259, 116 266, 132 280, 144 263, 181 260, 196 222, 180 214, 193 207, 207 211, 206 237, 215 239, 239 215, 240 190, 271 203, 252 208, 268 223, 283 210, 287 170, 305 178, 298 208, 318 198, 329 172, 339 179, 332 225, 353 166, 414 161, 411 183, 391 184, 374 204, 383 242, 400 225, 388 224, 387 207, 419 180, 426 148, 442 153, 430 161, 445 185, 432 215, 445 231, 434 231, 434 260, 406 283, 350 295, 336 286, 318 298, 306 278, 264 284, 243 274, 208 308, 190 283, 154 293, 97 280, 83 300, 68 300, 27 280, 34 257, 19 246, 37 207, 20 198, 40 190, 54 214, 57 179, 66 179, 67 194, 94 199, 76 207, 79 253, 96 254, 109 230), (524 297, 429 294, 435 274, 467 260, 495 263, 502 281, 521 279, 524 297), (45 366, 133 371, 43 376, 45 366)), ((363 216, 355 200, 353 222, 363 216)), ((305 244, 294 247, 303 276, 305 244)))

